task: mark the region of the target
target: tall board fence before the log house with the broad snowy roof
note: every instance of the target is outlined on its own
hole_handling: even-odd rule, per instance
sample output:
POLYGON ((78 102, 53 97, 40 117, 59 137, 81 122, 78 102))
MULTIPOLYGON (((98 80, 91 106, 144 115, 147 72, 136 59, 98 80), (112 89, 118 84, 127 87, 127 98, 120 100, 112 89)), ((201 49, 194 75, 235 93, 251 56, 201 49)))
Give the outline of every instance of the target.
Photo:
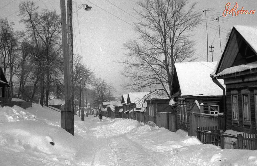
POLYGON ((196 136, 197 127, 205 126, 217 126, 218 128, 225 128, 224 115, 210 115, 210 114, 200 114, 200 113, 190 113, 190 135, 196 136))

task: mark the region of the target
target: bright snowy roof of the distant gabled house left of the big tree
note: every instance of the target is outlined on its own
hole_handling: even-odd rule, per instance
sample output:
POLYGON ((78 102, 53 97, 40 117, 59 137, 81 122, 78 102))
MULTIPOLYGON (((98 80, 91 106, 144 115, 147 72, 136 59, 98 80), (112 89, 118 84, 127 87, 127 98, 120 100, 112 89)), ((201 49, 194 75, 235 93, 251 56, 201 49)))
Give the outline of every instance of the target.
POLYGON ((149 94, 150 92, 130 92, 128 93, 127 104, 135 103, 136 108, 142 108, 144 98, 146 98, 149 94))

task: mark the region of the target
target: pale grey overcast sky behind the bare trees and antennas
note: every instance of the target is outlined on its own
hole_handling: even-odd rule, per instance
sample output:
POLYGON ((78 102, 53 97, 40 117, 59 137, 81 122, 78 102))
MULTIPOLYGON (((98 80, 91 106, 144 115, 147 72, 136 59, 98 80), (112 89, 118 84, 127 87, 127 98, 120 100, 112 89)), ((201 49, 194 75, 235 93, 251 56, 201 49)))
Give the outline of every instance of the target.
MULTIPOLYGON (((123 90, 121 75, 119 72, 123 67, 115 61, 124 56, 123 44, 135 37, 134 22, 138 17, 133 9, 138 9, 136 0, 74 0, 73 10, 73 37, 74 53, 83 56, 85 64, 95 70, 97 77, 101 77, 107 82, 113 82, 117 89, 116 95, 121 96, 128 91, 123 90), (92 6, 92 10, 86 12, 83 8, 79 9, 80 4, 92 6), (117 7, 116 7, 116 6, 117 7), (121 10, 122 9, 122 10, 121 10), (131 16, 132 15, 132 16, 131 16)), ((19 23, 19 3, 21 0, 0 0, 0 16, 7 17, 10 22, 14 22, 14 30, 22 30, 23 25, 19 23)), ((60 14, 59 0, 35 0, 39 11, 42 9, 56 10, 60 14)), ((257 10, 256 0, 191 0, 190 3, 197 2, 196 10, 211 10, 206 12, 208 45, 214 46, 214 61, 220 58, 220 39, 218 31, 218 21, 212 21, 221 16, 225 10, 225 5, 229 2, 230 9, 238 4, 238 9, 257 10)), ((237 10, 238 10, 237 9, 237 10)), ((193 39, 196 41, 195 50, 198 61, 207 61, 206 44, 206 23, 205 15, 202 15, 203 22, 194 29, 193 39)), ((220 17, 220 37, 221 48, 224 50, 226 44, 226 34, 230 32, 234 25, 253 25, 257 24, 257 13, 239 14, 232 17, 220 17)), ((209 60, 211 54, 209 52, 209 60)))

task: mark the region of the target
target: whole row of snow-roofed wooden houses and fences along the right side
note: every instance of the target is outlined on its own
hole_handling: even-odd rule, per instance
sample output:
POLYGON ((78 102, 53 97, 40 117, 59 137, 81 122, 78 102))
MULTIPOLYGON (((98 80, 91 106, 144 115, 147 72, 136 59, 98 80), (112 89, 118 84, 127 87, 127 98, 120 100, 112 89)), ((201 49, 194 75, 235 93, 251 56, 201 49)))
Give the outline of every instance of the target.
POLYGON ((124 94, 108 107, 109 117, 183 129, 191 136, 209 126, 235 136, 256 134, 256 36, 256 27, 234 26, 219 62, 175 63, 171 98, 163 91, 124 94))

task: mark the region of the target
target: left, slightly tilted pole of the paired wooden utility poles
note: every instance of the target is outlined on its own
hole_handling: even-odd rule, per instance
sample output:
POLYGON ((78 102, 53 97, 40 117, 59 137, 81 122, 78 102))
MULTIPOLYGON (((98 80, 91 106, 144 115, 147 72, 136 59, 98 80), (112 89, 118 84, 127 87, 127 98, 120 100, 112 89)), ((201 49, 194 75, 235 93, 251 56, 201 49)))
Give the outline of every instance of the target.
POLYGON ((69 63, 65 0, 60 0, 60 5, 61 5, 64 86, 65 86, 65 107, 64 109, 61 110, 61 127, 66 131, 68 131, 69 133, 71 133, 72 135, 74 135, 74 115, 71 110, 71 66, 69 63))

